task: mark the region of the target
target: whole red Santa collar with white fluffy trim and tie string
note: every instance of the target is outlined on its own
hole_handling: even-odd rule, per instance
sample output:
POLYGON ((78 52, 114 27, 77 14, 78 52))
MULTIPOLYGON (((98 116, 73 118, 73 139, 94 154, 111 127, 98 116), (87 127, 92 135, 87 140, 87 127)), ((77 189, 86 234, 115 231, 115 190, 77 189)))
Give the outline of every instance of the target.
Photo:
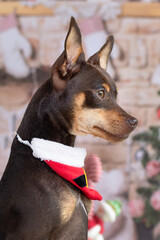
POLYGON ((102 196, 96 190, 88 187, 83 168, 86 149, 40 138, 33 138, 29 143, 27 140, 22 140, 18 134, 17 139, 32 149, 34 157, 45 161, 59 176, 79 188, 88 199, 102 200, 102 196))

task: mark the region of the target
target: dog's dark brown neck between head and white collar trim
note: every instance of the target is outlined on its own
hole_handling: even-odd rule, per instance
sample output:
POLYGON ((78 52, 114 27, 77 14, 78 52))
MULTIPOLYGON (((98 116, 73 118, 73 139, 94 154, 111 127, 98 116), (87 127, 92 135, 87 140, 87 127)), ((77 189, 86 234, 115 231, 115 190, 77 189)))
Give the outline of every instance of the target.
MULTIPOLYGON (((49 82, 46 82, 35 93, 17 132, 23 139, 28 141, 36 137, 74 146, 75 136, 67 131, 63 116, 57 113, 56 108, 46 109, 45 100, 41 101, 44 92, 45 98, 49 99, 49 91, 50 85, 49 82), (46 91, 48 91, 48 96, 46 96, 46 91)), ((48 102, 46 105, 49 105, 48 102)))

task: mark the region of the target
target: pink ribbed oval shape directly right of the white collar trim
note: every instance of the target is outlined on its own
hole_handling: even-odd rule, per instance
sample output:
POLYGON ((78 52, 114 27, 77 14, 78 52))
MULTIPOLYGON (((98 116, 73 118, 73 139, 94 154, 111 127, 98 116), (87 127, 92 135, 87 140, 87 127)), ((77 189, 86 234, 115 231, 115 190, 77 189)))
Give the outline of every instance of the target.
POLYGON ((102 163, 96 154, 90 154, 85 160, 85 171, 88 180, 96 183, 102 176, 102 163))

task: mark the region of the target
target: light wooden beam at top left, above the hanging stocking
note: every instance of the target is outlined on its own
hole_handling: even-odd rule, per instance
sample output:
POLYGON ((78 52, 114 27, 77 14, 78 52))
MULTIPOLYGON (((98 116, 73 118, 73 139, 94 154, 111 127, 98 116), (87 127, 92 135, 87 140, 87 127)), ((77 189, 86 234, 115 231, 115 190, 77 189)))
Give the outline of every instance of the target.
POLYGON ((7 15, 13 12, 17 15, 52 15, 53 12, 50 8, 45 7, 42 4, 36 5, 34 7, 28 7, 22 5, 20 2, 8 1, 0 2, 0 15, 7 15))

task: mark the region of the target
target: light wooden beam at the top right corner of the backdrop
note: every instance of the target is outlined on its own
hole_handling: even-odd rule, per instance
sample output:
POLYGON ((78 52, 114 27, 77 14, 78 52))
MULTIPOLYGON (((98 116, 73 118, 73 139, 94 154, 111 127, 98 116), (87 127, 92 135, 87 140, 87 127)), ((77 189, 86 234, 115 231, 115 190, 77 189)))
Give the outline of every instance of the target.
POLYGON ((126 2, 122 17, 160 17, 160 3, 126 2))

